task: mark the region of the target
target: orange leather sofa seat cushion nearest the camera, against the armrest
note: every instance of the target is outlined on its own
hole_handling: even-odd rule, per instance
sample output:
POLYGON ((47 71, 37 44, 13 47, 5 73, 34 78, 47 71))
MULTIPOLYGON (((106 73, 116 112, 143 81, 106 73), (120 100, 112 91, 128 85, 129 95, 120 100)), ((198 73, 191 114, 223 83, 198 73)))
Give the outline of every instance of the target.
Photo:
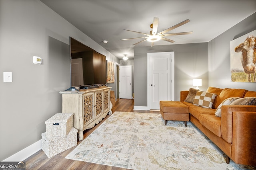
POLYGON ((201 114, 199 122, 214 133, 216 136, 221 137, 221 118, 215 115, 201 114))

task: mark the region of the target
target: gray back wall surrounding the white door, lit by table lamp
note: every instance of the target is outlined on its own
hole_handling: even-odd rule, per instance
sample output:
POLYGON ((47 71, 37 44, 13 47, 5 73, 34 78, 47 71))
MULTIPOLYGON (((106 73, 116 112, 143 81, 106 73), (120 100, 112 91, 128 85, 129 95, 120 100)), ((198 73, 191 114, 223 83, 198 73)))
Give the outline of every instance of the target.
MULTIPOLYGON (((134 106, 147 106, 147 53, 174 51, 174 100, 180 91, 192 86, 192 79, 201 78, 208 87, 208 43, 162 45, 134 48, 134 106)), ((194 87, 195 88, 195 87, 194 87)))

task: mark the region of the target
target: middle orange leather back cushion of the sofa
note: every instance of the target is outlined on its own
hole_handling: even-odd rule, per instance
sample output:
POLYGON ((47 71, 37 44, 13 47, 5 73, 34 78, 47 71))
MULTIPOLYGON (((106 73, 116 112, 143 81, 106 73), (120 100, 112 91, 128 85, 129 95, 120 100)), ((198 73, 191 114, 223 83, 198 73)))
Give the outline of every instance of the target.
POLYGON ((248 90, 245 89, 234 89, 234 88, 224 88, 221 92, 218 98, 216 99, 216 105, 215 109, 221 104, 221 102, 227 98, 232 97, 239 97, 243 98, 244 95, 248 92, 248 90))

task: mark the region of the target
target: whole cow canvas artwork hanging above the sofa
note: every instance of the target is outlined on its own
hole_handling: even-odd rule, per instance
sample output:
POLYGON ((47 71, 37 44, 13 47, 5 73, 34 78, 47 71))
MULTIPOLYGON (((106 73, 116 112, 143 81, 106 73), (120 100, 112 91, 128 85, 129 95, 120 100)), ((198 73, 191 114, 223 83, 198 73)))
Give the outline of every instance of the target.
POLYGON ((256 82, 256 30, 230 41, 232 82, 256 82))

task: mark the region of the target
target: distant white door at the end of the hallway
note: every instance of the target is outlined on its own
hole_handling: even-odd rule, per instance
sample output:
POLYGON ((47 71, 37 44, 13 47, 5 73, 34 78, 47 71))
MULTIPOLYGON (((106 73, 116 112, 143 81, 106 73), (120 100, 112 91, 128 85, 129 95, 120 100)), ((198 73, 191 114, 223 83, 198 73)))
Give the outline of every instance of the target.
POLYGON ((119 66, 119 98, 132 99, 132 66, 119 66))

